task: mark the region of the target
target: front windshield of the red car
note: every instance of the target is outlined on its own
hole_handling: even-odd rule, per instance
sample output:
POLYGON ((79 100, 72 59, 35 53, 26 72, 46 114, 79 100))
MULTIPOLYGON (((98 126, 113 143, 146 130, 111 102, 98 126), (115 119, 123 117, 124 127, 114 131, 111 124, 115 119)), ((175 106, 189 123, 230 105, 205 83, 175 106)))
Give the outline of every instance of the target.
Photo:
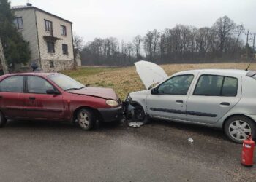
POLYGON ((64 74, 54 74, 48 76, 48 78, 56 83, 63 90, 78 90, 85 87, 83 84, 75 81, 75 79, 70 78, 64 74))

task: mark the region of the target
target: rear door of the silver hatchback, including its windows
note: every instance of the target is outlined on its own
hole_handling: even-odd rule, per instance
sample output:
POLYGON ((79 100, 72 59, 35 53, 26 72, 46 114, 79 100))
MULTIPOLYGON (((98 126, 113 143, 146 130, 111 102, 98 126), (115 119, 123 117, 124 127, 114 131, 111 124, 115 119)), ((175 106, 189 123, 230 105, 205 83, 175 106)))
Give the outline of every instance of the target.
POLYGON ((187 100, 187 120, 213 124, 241 99, 241 76, 200 74, 187 100))

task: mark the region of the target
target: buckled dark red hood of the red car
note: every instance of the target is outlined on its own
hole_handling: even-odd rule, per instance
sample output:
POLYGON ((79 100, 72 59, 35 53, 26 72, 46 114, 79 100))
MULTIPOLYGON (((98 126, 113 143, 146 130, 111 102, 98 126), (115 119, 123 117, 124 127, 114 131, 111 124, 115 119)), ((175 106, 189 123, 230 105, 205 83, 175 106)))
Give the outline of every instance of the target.
POLYGON ((116 92, 110 88, 85 87, 80 90, 69 90, 68 92, 79 95, 91 95, 98 98, 118 100, 116 92))

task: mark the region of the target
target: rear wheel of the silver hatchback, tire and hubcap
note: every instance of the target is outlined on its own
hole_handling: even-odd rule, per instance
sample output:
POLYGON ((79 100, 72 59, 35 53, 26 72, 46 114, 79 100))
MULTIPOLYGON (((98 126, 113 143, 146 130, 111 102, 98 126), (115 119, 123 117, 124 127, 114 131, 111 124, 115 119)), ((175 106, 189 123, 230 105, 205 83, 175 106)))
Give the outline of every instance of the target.
POLYGON ((224 131, 231 141, 243 143, 249 134, 256 137, 256 124, 246 116, 233 116, 225 122, 224 131))

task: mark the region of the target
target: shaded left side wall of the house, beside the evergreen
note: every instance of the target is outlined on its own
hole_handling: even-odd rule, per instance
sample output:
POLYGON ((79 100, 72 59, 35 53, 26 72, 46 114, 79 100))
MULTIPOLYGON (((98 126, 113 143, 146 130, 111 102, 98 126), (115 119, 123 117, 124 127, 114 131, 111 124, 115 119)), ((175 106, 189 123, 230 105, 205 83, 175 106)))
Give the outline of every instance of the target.
POLYGON ((39 49, 37 41, 37 25, 34 9, 15 10, 15 17, 22 17, 23 30, 18 30, 22 33, 23 38, 29 41, 31 50, 31 61, 39 60, 39 49))

